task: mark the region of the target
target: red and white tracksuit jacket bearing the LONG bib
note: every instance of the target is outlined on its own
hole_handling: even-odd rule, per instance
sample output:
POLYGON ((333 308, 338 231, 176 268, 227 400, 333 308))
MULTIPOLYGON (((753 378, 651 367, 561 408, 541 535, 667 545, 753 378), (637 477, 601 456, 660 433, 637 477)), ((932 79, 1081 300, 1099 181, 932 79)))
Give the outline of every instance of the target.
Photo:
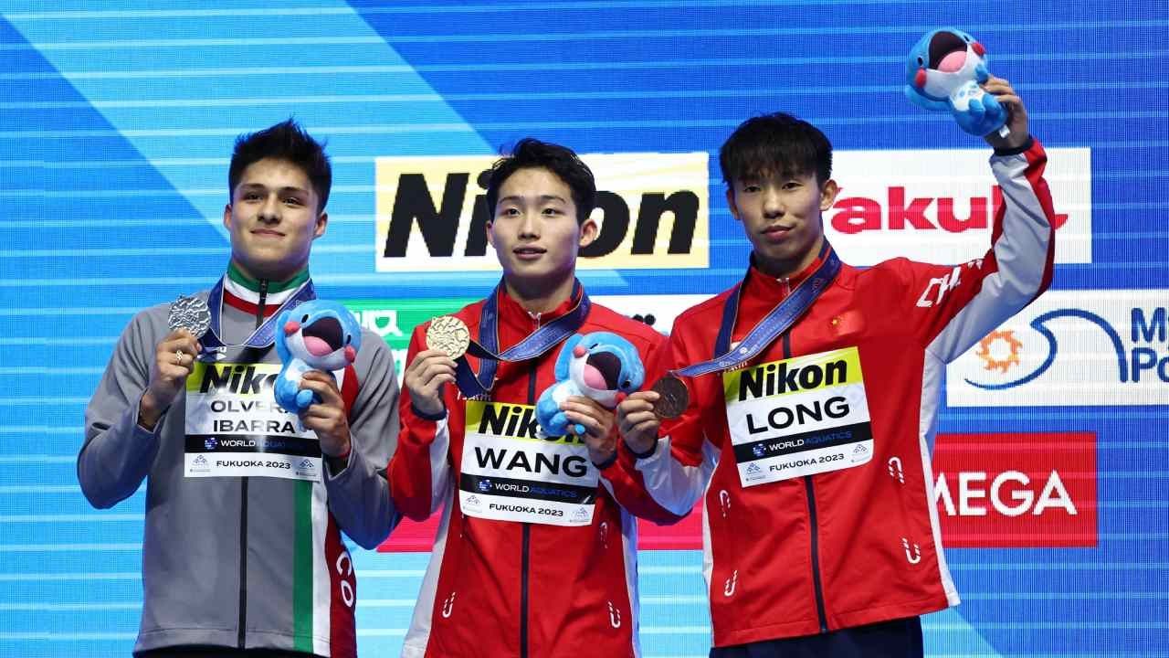
MULTIPOLYGON (((1042 146, 990 162, 1004 204, 983 258, 844 266, 746 366, 687 379, 690 407, 663 424, 652 455, 622 451, 618 464, 644 487, 652 520, 677 521, 704 496, 715 646, 959 603, 928 447, 943 368, 1047 287, 1054 251, 1042 146)), ((752 268, 732 345, 817 265, 789 281, 752 268)), ((728 296, 677 318, 665 368, 713 356, 728 296)))

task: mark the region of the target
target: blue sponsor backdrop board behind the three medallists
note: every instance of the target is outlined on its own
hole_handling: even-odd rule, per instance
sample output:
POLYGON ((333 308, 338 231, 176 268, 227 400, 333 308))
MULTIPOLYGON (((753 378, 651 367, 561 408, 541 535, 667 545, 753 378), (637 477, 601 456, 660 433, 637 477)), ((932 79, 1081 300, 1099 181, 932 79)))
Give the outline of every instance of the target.
MULTIPOLYGON (((1053 0, 0 1, 0 654, 132 646, 144 494, 84 501, 82 413, 131 315, 222 273, 237 133, 295 115, 328 139, 312 272, 400 358, 497 281, 478 176, 528 135, 602 181, 581 279, 667 331, 742 274, 718 148, 763 111, 837 146, 848 261, 981 255, 987 149, 900 89, 947 25, 1028 98, 1060 227, 1053 290, 947 373, 935 491, 963 603, 925 619, 926 651, 1169 654, 1169 9, 1053 0)), ((397 653, 431 529, 355 550, 362 654, 397 653)), ((648 657, 706 654, 699 537, 697 515, 643 529, 648 657)))

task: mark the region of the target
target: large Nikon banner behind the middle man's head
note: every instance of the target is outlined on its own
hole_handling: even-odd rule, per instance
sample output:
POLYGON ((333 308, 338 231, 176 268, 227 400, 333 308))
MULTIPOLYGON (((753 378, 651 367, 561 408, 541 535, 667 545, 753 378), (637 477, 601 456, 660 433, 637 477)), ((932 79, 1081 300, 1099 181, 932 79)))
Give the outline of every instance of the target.
MULTIPOLYGON (((497 156, 376 159, 378 272, 499 267, 489 248, 484 172, 497 156)), ((710 252, 707 153, 594 153, 600 225, 580 269, 705 268, 710 252)))

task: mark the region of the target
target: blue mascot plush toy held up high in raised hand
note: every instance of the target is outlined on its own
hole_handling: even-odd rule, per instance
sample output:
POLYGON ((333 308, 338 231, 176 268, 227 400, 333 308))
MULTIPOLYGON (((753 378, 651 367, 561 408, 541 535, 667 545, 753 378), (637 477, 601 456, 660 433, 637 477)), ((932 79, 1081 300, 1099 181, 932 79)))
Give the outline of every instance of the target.
POLYGON ((926 34, 905 62, 905 95, 927 110, 949 110, 970 135, 999 130, 1007 123, 1007 108, 978 87, 990 77, 985 54, 981 43, 960 29, 926 34))

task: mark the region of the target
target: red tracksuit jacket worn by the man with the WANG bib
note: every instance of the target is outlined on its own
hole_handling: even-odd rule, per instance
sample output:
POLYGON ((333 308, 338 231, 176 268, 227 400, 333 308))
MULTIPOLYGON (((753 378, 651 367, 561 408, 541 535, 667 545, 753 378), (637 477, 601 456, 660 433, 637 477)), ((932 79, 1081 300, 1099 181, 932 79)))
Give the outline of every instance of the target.
MULTIPOLYGON (((478 336, 483 303, 455 314, 466 323, 472 337, 478 336)), ((505 293, 499 294, 498 304, 500 350, 563 315, 572 306, 565 302, 556 310, 535 317, 505 293)), ((601 330, 624 336, 642 355, 650 355, 665 341, 645 324, 594 303, 577 333, 601 330)), ((414 331, 408 363, 426 349, 424 335, 426 325, 414 331)), ((496 405, 490 411, 492 418, 520 418, 517 427, 525 425, 532 417, 524 416, 524 407, 517 405, 534 405, 538 396, 555 382, 553 370, 559 351, 556 347, 535 359, 500 363, 491 393, 491 403, 496 405)), ((471 358, 471 365, 478 371, 477 359, 471 358)), ((595 485, 593 519, 587 525, 566 527, 464 514, 464 505, 480 498, 476 492, 525 477, 526 467, 539 466, 527 459, 517 465, 514 453, 510 453, 512 457, 505 457, 497 466, 512 462, 517 468, 502 473, 507 478, 491 478, 493 485, 465 473, 464 465, 476 467, 473 460, 485 454, 480 444, 475 444, 479 451, 468 446, 468 427, 472 434, 479 427, 468 424, 468 417, 486 418, 489 411, 479 400, 463 399, 456 386, 444 389, 447 413, 438 419, 420 416, 411 407, 409 392, 403 390, 402 430, 389 465, 390 488, 401 513, 422 520, 438 507, 444 508, 402 656, 638 656, 637 526, 622 503, 625 498, 635 503, 644 503, 645 499, 627 494, 634 488, 632 480, 615 465, 601 472, 595 485), (484 488, 477 489, 478 486, 484 488)), ((566 460, 563 468, 581 468, 586 464, 595 474, 587 457, 577 458, 573 467, 566 460)), ((499 469, 493 472, 500 474, 499 469)), ((544 505, 538 499, 524 498, 512 502, 518 507, 544 505)), ((639 512, 649 514, 650 508, 639 512)))

